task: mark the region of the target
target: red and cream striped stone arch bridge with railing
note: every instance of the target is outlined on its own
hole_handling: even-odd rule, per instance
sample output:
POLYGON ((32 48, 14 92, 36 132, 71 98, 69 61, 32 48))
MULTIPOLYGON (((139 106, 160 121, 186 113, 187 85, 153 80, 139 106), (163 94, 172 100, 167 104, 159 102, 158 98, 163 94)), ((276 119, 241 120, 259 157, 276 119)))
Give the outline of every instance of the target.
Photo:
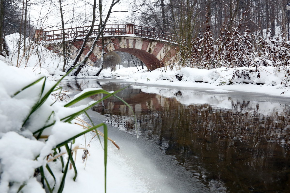
MULTIPOLYGON (((77 53, 83 43, 82 38, 86 36, 89 28, 90 26, 65 29, 65 41, 70 53, 77 53)), ((97 32, 98 29, 95 26, 81 59, 90 50, 90 45, 97 32)), ((35 35, 37 39, 46 42, 45 47, 49 50, 53 50, 55 53, 62 52, 62 30, 36 30, 35 35)), ((133 24, 106 25, 104 37, 106 53, 111 51, 130 53, 139 58, 149 70, 173 64, 177 60, 176 54, 179 49, 176 38, 169 32, 133 24)), ((88 62, 96 62, 101 57, 101 51, 102 42, 98 40, 88 62)), ((74 58, 75 55, 72 57, 74 58)))

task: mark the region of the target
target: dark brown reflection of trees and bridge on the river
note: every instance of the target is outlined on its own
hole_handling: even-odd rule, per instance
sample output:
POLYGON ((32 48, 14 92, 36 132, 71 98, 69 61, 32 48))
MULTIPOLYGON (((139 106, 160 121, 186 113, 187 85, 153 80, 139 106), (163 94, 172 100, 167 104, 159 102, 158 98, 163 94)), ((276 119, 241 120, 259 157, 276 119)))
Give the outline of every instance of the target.
MULTIPOLYGON (((222 180, 229 192, 289 189, 289 105, 266 116, 257 102, 232 100, 229 110, 184 106, 139 90, 121 95, 133 107, 142 135, 201 180, 222 180)), ((94 110, 102 112, 101 105, 94 110)), ((122 102, 107 100, 103 114, 118 115, 108 116, 108 122, 133 130, 133 117, 122 102)))

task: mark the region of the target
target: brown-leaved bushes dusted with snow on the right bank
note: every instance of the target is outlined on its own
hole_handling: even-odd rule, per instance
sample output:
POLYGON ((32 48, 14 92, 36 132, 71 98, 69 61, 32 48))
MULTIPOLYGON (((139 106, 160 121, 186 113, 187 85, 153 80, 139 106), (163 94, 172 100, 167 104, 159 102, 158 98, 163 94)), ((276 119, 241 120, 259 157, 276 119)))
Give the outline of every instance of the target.
POLYGON ((260 78, 261 68, 272 66, 275 68, 274 74, 284 73, 284 79, 275 84, 288 85, 290 81, 290 41, 285 42, 278 37, 269 35, 267 35, 267 39, 264 39, 251 33, 249 29, 245 29, 242 33, 241 25, 240 23, 237 28, 232 30, 223 26, 220 37, 214 41, 210 26, 206 23, 203 38, 192 40, 191 58, 188 58, 186 64, 180 66, 200 69, 225 67, 233 72, 231 81, 237 81, 237 83, 255 82, 251 80, 253 72, 255 77, 260 78))

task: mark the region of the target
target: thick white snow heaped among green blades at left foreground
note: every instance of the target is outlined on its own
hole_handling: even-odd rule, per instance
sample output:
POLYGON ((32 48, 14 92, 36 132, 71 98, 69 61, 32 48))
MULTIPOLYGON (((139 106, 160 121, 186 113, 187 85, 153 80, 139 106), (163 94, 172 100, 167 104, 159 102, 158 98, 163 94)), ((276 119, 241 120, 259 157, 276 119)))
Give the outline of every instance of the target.
MULTIPOLYGON (((40 97, 44 97, 44 93, 53 85, 46 82, 43 88, 45 79, 40 79, 42 74, 36 75, 23 68, 7 66, 2 61, 0 68, 3 70, 0 76, 0 192, 17 192, 19 188, 23 188, 22 192, 45 192, 35 178, 40 175, 35 172, 36 169, 46 167, 46 158, 53 154, 52 149, 57 144, 83 130, 76 125, 61 122, 59 117, 68 108, 64 108, 61 103, 53 104, 50 97, 32 113, 40 97), (40 81, 21 91, 36 80, 40 81), (21 92, 15 95, 17 91, 21 92), (54 121, 55 124, 48 126, 41 134, 48 135, 48 139, 36 140, 34 135, 38 133, 35 132, 54 121)), ((59 180, 56 181, 58 186, 59 180)))

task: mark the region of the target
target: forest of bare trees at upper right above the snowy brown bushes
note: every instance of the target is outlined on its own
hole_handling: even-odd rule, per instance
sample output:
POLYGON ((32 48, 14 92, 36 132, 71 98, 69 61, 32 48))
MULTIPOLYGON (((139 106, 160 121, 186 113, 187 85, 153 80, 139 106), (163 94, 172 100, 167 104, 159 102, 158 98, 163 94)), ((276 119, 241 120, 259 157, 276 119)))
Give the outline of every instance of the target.
MULTIPOLYGON (((288 0, 161 0, 135 3, 142 12, 134 14, 133 20, 140 25, 160 28, 177 33, 185 39, 202 37, 206 21, 213 33, 213 39, 220 35, 221 28, 231 30, 238 27, 260 32, 263 29, 276 34, 279 26, 287 34, 286 4, 288 0)), ((287 36, 287 38, 289 38, 287 36)))

